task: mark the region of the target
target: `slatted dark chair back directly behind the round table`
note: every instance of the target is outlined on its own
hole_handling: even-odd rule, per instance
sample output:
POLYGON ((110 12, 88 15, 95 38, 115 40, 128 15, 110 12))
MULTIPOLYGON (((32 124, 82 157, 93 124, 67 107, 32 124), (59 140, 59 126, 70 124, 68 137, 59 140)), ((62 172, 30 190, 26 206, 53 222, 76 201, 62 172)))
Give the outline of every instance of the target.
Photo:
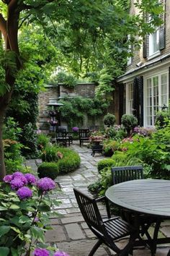
POLYGON ((128 182, 133 179, 144 179, 143 166, 112 167, 112 184, 128 182))

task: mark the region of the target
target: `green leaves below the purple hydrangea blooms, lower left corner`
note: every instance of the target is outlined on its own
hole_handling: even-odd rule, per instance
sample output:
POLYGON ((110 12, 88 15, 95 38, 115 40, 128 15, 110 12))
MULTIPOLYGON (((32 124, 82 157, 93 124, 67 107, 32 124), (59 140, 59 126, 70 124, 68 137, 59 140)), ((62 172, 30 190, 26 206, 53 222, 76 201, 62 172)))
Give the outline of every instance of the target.
POLYGON ((44 248, 48 247, 45 231, 50 229, 49 219, 53 216, 50 207, 58 201, 50 198, 50 191, 44 193, 36 185, 30 184, 27 189, 32 196, 29 194, 23 200, 8 182, 0 184, 0 249, 3 256, 31 255, 35 239, 39 246, 43 243, 44 248))

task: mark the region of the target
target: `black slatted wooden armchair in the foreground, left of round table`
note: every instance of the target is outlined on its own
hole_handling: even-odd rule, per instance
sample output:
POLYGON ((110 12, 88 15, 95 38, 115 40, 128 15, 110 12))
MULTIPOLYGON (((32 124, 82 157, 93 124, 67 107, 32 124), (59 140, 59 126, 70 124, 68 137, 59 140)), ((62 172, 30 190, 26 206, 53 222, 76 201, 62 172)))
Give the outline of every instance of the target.
MULTIPOLYGON (((81 210, 82 216, 89 226, 89 229, 99 239, 94 247, 89 252, 89 256, 94 255, 101 244, 106 244, 110 249, 117 253, 117 255, 128 255, 133 252, 133 244, 135 242, 136 232, 135 229, 127 222, 123 221, 120 217, 102 218, 97 202, 100 200, 107 200, 106 197, 94 199, 79 189, 73 188, 76 200, 81 210), (115 240, 130 235, 128 243, 123 249, 120 249, 115 244, 115 240)), ((107 209, 108 210, 108 209, 107 209)), ((108 217, 109 217, 109 212, 108 217)))

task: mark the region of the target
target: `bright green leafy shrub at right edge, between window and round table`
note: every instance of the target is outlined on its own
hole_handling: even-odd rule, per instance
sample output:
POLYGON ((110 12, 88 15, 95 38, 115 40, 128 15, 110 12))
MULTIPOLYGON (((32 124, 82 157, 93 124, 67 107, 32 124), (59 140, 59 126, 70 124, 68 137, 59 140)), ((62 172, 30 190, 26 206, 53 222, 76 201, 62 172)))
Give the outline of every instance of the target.
POLYGON ((133 143, 125 142, 128 150, 124 153, 128 158, 136 157, 148 166, 151 166, 149 175, 152 178, 169 179, 169 145, 170 129, 158 129, 152 137, 136 136, 133 143))

